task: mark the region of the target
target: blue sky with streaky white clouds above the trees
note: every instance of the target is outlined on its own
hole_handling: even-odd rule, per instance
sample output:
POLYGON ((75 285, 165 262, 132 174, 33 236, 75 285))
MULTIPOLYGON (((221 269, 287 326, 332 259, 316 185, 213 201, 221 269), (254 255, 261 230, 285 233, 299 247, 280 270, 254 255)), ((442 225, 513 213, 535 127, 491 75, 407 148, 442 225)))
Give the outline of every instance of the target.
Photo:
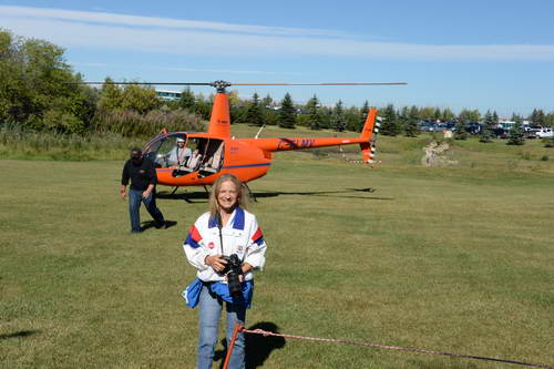
POLYGON ((406 81, 237 90, 501 116, 554 111, 552 14, 550 0, 0 0, 0 28, 65 48, 89 81, 406 81))

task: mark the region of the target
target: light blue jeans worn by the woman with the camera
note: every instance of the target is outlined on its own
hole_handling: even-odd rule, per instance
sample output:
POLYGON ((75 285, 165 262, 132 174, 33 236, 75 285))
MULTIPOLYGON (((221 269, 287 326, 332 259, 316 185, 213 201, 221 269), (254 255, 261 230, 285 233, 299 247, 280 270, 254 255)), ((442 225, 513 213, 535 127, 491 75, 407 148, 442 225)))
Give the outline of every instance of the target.
MULTIPOLYGON (((198 337, 198 369, 209 369, 214 360, 215 347, 217 345, 219 317, 223 304, 220 298, 212 295, 206 286, 202 287, 199 306, 199 337, 198 337)), ((245 324, 246 309, 236 305, 225 303, 227 310, 227 348, 233 337, 235 324, 245 324)), ((244 369, 245 367, 245 340, 244 334, 238 334, 230 356, 229 369, 244 369)))

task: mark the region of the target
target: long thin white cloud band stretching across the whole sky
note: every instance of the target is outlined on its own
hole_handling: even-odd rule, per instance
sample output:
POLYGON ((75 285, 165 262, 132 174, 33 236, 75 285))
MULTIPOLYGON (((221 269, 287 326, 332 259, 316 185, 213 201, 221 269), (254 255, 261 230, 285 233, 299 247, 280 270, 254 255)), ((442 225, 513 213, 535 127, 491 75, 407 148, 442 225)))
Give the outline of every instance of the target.
POLYGON ((552 61, 554 45, 433 45, 366 41, 332 30, 294 29, 105 12, 0 6, 0 24, 66 48, 170 54, 321 55, 427 61, 552 61))

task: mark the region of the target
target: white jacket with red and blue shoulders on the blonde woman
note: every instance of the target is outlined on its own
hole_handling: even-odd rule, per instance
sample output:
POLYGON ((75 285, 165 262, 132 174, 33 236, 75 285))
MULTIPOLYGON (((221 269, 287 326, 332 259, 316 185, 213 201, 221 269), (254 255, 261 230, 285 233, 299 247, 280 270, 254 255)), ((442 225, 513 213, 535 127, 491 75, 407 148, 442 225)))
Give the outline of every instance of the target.
MULTIPOLYGON (((244 263, 254 269, 261 269, 265 264, 266 244, 264 234, 258 227, 256 216, 237 207, 227 224, 222 228, 223 255, 237 254, 244 263)), ((183 243, 186 258, 198 269, 197 277, 204 281, 223 281, 224 276, 217 274, 204 260, 206 256, 222 254, 219 228, 217 222, 209 218, 209 213, 202 214, 188 232, 183 243)), ((245 280, 254 278, 252 271, 245 274, 245 280)))

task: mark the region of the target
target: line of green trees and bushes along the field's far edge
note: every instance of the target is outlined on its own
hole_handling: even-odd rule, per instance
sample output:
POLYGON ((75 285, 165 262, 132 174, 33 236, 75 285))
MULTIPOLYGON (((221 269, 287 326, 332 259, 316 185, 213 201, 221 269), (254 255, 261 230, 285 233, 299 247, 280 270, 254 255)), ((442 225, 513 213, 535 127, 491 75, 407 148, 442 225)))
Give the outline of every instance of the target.
MULTIPOLYGON (((213 98, 195 94, 185 89, 175 101, 156 96, 148 85, 119 85, 106 78, 100 89, 82 84, 63 57, 64 50, 38 39, 25 39, 0 29, 0 124, 19 125, 34 131, 58 133, 86 133, 107 131, 125 136, 153 135, 162 129, 171 131, 199 131, 209 119, 213 98)), ((360 132, 370 107, 368 101, 360 107, 345 106, 338 101, 334 106, 322 105, 314 95, 304 104, 295 103, 286 93, 280 101, 268 94, 255 93, 252 99, 240 99, 237 91, 229 92, 232 123, 279 125, 285 129, 305 126, 311 130, 345 130, 360 132)), ((416 136, 419 122, 424 120, 484 123, 484 142, 490 140, 492 126, 497 123, 495 112, 481 114, 479 110, 379 106, 383 116, 381 133, 386 135, 416 136)), ((554 126, 554 112, 535 109, 526 117, 535 125, 554 126)), ((512 120, 521 123, 517 114, 512 120)), ((463 130, 456 130, 460 134, 463 130)), ((463 137, 459 137, 462 139, 463 137)))

